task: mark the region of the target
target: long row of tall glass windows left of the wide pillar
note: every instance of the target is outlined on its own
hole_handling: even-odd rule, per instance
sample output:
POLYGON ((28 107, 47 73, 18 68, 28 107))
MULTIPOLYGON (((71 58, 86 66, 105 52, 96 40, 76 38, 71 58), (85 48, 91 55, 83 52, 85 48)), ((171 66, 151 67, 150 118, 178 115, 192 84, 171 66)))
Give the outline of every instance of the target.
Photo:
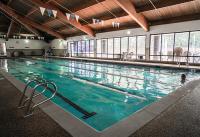
POLYGON ((70 51, 72 56, 78 57, 122 59, 126 53, 126 58, 130 60, 145 59, 145 38, 134 36, 75 41, 70 45, 70 51))

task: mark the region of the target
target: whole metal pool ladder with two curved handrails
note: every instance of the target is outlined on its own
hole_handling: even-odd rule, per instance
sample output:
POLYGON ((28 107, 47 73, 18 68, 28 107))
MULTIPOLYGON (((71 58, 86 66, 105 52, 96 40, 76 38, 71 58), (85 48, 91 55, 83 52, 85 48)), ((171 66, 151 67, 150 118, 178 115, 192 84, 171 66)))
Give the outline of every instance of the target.
POLYGON ((26 84, 26 86, 23 90, 22 96, 21 96, 19 104, 18 104, 18 108, 19 109, 25 108, 24 117, 28 117, 28 116, 33 114, 33 111, 36 107, 38 107, 39 105, 44 104, 45 102, 51 100, 56 95, 56 93, 57 93, 57 86, 55 85, 55 83, 50 82, 50 81, 46 81, 46 80, 43 80, 43 79, 31 80, 26 84), (26 91, 27 91, 28 87, 30 87, 31 84, 35 84, 35 86, 32 89, 30 97, 25 97, 26 91), (39 87, 44 88, 44 89, 41 92, 35 94, 36 90, 39 87), (39 97, 40 95, 45 93, 45 91, 47 91, 47 90, 50 91, 52 93, 52 95, 50 97, 48 97, 47 99, 44 99, 44 100, 32 105, 33 98, 39 97))

